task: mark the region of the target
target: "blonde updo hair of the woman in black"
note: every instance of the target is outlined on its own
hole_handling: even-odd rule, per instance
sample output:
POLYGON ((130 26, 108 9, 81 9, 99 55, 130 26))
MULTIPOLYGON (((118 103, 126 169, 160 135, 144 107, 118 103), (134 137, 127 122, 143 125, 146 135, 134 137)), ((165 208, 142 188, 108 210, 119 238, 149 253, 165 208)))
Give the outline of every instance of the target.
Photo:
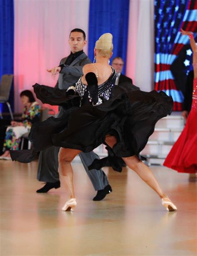
POLYGON ((95 44, 96 53, 104 58, 110 58, 113 51, 112 41, 113 35, 111 33, 101 35, 95 44))

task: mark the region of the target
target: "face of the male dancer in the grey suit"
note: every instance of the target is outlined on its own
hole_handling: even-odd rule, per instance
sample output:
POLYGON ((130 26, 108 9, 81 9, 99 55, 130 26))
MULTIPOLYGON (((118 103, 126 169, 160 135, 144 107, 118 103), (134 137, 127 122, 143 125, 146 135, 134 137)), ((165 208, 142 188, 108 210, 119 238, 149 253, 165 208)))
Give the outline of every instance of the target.
POLYGON ((72 53, 77 53, 78 51, 83 50, 86 45, 86 40, 84 40, 83 33, 81 32, 72 32, 69 38, 69 45, 72 53))

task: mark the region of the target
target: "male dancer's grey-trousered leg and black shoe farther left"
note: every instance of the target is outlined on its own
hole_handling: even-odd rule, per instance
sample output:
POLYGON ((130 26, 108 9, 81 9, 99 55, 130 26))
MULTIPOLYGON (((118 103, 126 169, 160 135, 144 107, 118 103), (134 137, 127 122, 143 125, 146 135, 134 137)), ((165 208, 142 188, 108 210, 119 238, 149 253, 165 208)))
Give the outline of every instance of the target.
POLYGON ((37 180, 47 182, 37 193, 47 193, 51 188, 59 188, 58 153, 60 147, 49 147, 40 152, 37 180))

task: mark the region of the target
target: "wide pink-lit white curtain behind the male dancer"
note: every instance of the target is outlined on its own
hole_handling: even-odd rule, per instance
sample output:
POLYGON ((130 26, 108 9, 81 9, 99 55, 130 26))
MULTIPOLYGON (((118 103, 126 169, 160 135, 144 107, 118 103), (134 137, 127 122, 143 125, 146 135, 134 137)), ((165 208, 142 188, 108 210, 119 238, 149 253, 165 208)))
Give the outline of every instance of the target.
POLYGON ((20 112, 21 91, 32 90, 35 83, 56 84, 46 69, 69 55, 70 31, 81 28, 88 38, 89 0, 15 0, 14 4, 15 112, 20 112))

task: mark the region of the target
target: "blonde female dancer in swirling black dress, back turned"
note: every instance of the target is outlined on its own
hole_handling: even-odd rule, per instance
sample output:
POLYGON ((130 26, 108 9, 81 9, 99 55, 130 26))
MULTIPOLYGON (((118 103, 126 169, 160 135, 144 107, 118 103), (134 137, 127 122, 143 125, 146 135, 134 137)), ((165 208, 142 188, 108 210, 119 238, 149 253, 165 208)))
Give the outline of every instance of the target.
POLYGON ((108 64, 112 50, 112 35, 101 35, 94 49, 96 63, 84 66, 84 75, 76 87, 60 91, 34 85, 34 91, 43 103, 59 104, 67 110, 64 117, 49 118, 34 125, 30 132, 34 152, 30 155, 27 151, 17 152, 12 154, 12 159, 27 162, 32 160, 35 152, 43 149, 43 144, 45 147, 59 145, 59 173, 69 193, 69 200, 62 210, 73 210, 76 199, 71 161, 81 151, 89 152, 105 143, 108 157, 94 160, 90 169, 112 166, 121 171, 126 163, 155 190, 167 210, 176 210, 139 155, 158 119, 171 113, 172 98, 164 92, 148 93, 132 91, 130 86, 114 86, 116 71, 108 64))

